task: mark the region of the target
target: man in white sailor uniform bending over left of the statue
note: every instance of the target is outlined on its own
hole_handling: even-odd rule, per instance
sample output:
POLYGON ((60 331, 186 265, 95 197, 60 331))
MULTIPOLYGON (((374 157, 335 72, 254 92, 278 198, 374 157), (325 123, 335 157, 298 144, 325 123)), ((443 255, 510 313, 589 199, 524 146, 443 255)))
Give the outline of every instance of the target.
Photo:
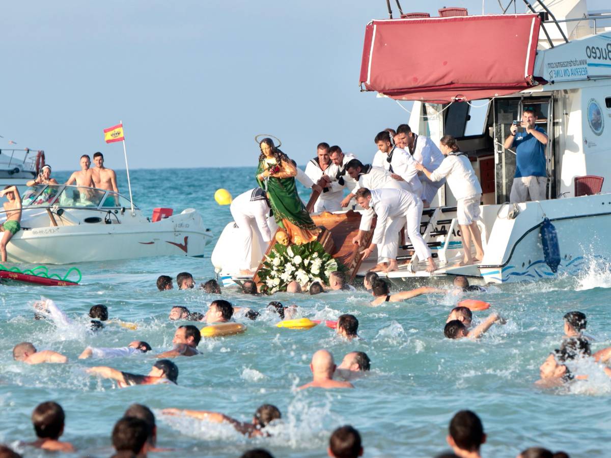
MULTIPOLYGON (((270 208, 265 191, 260 187, 249 189, 233 199, 229 209, 235 224, 240 229, 241 239, 236 242, 243 243, 240 250, 236 250, 236 253, 239 252, 242 256, 240 274, 253 275, 252 238, 258 239, 258 246, 265 253, 267 244, 276 231, 273 219, 268 219, 270 208)), ((258 260, 255 262, 258 263, 258 260)))

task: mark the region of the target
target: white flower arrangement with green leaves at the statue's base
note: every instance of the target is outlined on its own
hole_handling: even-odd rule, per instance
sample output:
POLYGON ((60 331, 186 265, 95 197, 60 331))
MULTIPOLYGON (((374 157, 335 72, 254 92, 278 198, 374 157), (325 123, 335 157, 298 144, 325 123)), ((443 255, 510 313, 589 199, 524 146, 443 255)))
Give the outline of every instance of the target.
POLYGON ((288 283, 296 280, 304 286, 309 282, 329 283, 329 274, 338 270, 337 261, 323 249, 319 242, 304 245, 276 244, 265 256, 259 278, 262 290, 273 294, 286 291, 288 283))

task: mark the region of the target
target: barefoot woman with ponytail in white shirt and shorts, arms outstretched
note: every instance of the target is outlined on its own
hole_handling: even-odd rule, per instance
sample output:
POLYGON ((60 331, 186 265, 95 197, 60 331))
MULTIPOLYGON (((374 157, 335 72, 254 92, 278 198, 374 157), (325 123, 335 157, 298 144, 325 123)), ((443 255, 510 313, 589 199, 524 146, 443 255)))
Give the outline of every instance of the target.
POLYGON ((439 149, 445 158, 437 169, 431 172, 422 164, 416 167, 431 181, 447 179, 448 186, 456 197, 456 216, 463 239, 464 259, 458 265, 474 264, 484 257, 480 228, 477 227, 477 220, 480 219, 481 186, 467 154, 460 152, 454 137, 442 137, 439 149), (471 241, 475 245, 475 258, 471 255, 471 241))

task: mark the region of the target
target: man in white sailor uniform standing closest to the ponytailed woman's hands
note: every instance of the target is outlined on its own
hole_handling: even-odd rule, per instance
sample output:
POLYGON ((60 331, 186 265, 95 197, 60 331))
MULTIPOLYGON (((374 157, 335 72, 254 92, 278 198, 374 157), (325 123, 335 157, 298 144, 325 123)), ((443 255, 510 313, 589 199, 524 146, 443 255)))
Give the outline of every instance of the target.
MULTIPOLYGON (((414 134, 407 124, 401 124, 397 127, 395 144, 406 151, 409 148, 409 153, 415 161, 422 164, 427 170, 437 169, 441 165, 441 161, 444 160, 444 155, 441 154, 433 140, 423 135, 414 134)), ((439 188, 444 186, 445 180, 431 181, 424 174, 419 175, 419 178, 422 183, 420 198, 425 206, 430 206, 439 188)))

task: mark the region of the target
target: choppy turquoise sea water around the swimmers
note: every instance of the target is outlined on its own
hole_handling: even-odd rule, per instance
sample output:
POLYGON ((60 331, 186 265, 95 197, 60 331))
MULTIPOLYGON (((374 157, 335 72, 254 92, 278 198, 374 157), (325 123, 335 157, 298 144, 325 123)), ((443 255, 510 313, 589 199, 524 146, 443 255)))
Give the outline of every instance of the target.
MULTIPOLYGON (((57 175, 60 181, 67 178, 57 175)), ((227 206, 214 202, 214 191, 225 187, 235 196, 255 186, 253 176, 252 167, 131 172, 134 202, 145 214, 158 206, 175 211, 195 208, 216 237, 231 218, 227 206)), ((119 187, 128 195, 121 171, 119 187)), ((534 445, 563 449, 573 457, 609 456, 611 381, 597 365, 583 363, 581 371, 590 376, 588 381, 566 390, 533 385, 543 360, 560 346, 567 311, 587 314, 588 333, 596 338, 594 349, 611 345, 611 273, 595 264, 579 277, 491 286, 486 293, 463 296, 490 302, 491 310, 507 318, 507 324, 495 324, 476 342, 444 338, 448 311, 461 299, 452 294, 370 307, 371 296, 362 289, 266 297, 243 296, 227 288, 224 299, 255 310, 265 308, 269 300, 280 300, 298 305, 302 316, 314 319, 354 314, 363 339, 344 341, 322 325, 304 331, 279 329, 277 318, 263 313, 257 321, 238 317, 247 324, 246 333, 202 340, 202 355, 176 358, 178 386, 119 389, 110 380, 86 374, 85 369, 94 365, 139 374, 150 371, 155 362, 150 355, 77 357, 88 345, 120 347, 133 340, 147 341, 154 352, 170 349, 178 325, 167 318, 170 308, 184 305, 203 313, 218 296, 197 288, 159 293, 156 278, 175 278, 181 271, 191 272, 198 285, 213 278, 213 246, 204 258, 75 264, 83 277, 81 286, 71 288, 0 285, 0 442, 25 456, 45 456, 19 442, 35 439, 32 410, 53 400, 64 407, 63 438, 78 450, 73 456, 110 456, 115 421, 128 405, 139 402, 156 413, 158 446, 174 449, 159 456, 236 457, 246 449, 263 447, 276 457, 321 457, 331 432, 352 424, 362 435, 365 456, 426 457, 448 449, 450 418, 470 409, 478 413, 488 434, 482 448, 485 456, 514 457, 534 445), (53 299, 76 324, 57 329, 51 322, 35 321, 32 302, 41 296, 53 299), (86 314, 94 304, 107 305, 111 318, 134 322, 138 329, 111 324, 90 332, 86 314), (21 341, 31 341, 39 350, 59 351, 70 362, 14 362, 11 351, 21 341), (331 351, 337 363, 347 352, 364 351, 371 358, 371 372, 353 382, 354 390, 297 391, 311 379, 310 358, 322 348, 331 351), (246 421, 264 403, 276 405, 283 418, 268 438, 248 439, 225 424, 161 415, 161 409, 178 407, 214 410, 246 421)), ((49 266, 58 273, 67 269, 49 266)), ((488 311, 475 313, 475 322, 486 316, 488 311)))

